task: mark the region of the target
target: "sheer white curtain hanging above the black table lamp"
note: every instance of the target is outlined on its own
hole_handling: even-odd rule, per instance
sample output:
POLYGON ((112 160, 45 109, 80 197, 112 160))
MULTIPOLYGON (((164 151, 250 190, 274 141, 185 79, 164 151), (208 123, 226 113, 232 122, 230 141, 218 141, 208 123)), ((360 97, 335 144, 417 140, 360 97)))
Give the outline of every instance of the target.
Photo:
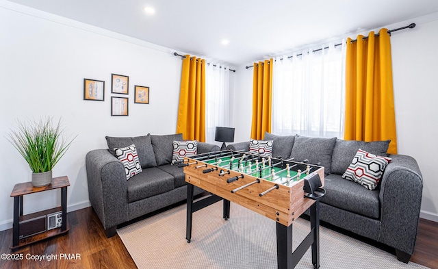
POLYGON ((216 126, 230 125, 230 79, 229 67, 207 64, 205 68, 205 138, 214 142, 216 126))

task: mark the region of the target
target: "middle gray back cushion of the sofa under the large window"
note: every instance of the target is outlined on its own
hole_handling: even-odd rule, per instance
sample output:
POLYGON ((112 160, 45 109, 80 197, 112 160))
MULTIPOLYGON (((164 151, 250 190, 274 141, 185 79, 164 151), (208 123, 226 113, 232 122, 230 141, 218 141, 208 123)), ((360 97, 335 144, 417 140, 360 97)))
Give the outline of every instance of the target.
POLYGON ((297 162, 304 159, 308 159, 311 164, 320 162, 320 166, 324 166, 324 172, 330 174, 335 142, 336 138, 308 138, 296 135, 290 157, 294 157, 297 162))

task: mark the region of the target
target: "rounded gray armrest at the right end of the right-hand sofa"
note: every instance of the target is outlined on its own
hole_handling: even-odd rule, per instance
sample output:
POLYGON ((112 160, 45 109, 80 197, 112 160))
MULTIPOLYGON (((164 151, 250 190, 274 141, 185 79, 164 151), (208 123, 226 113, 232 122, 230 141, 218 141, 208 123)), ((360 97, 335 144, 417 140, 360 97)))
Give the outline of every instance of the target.
POLYGON ((382 177, 380 242, 412 255, 417 238, 423 179, 420 168, 407 155, 392 158, 382 177))

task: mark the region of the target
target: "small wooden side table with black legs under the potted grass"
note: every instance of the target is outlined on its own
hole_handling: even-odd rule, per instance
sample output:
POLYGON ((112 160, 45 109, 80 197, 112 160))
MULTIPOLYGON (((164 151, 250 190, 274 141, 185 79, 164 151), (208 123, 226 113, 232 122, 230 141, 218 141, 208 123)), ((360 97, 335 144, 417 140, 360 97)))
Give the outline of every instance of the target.
POLYGON ((38 242, 47 238, 51 238, 56 235, 68 233, 69 227, 67 224, 67 187, 70 185, 68 177, 55 177, 52 179, 52 183, 47 186, 34 187, 31 182, 18 183, 12 190, 11 197, 14 197, 14 223, 12 225, 12 247, 16 250, 21 246, 38 242), (44 192, 46 190, 61 189, 61 206, 52 209, 47 209, 42 212, 36 212, 32 214, 23 215, 23 196, 26 194, 44 192), (62 212, 62 225, 54 229, 47 229, 47 215, 62 212), (43 220, 44 219, 44 220, 43 220), (42 222, 44 221, 44 228, 42 228, 42 222), (20 227, 27 223, 26 227, 32 227, 36 229, 35 234, 26 235, 20 238, 20 227))

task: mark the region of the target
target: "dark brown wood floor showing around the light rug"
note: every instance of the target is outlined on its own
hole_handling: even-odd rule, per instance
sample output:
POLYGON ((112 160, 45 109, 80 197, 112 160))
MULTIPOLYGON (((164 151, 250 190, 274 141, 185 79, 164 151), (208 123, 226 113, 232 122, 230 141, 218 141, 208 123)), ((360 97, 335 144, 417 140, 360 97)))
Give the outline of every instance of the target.
MULTIPOLYGON (((0 268, 136 268, 119 236, 105 237, 99 218, 91 207, 68 213, 68 223, 70 225, 68 234, 25 246, 15 252, 10 251, 12 229, 1 231, 0 253, 23 253, 24 259, 21 261, 0 259, 0 268), (79 254, 80 258, 61 260, 60 253, 79 254), (26 259, 26 255, 51 254, 58 255, 58 259, 51 261, 26 259)), ((437 253, 438 223, 420 219, 417 244, 411 261, 429 268, 438 268, 437 253)))

